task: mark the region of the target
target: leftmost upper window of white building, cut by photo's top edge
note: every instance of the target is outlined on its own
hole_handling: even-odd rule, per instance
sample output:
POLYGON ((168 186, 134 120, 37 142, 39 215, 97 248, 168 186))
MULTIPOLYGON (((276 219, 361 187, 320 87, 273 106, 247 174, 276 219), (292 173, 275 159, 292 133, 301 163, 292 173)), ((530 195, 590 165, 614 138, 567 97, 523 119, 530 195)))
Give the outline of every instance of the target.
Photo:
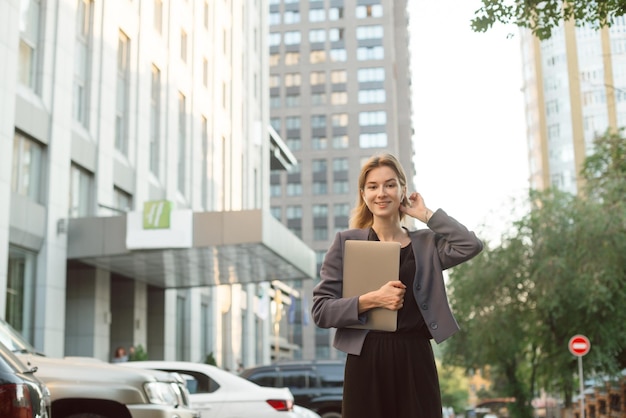
POLYGON ((19 82, 32 90, 37 88, 36 69, 39 60, 41 1, 22 0, 20 13, 19 82))

